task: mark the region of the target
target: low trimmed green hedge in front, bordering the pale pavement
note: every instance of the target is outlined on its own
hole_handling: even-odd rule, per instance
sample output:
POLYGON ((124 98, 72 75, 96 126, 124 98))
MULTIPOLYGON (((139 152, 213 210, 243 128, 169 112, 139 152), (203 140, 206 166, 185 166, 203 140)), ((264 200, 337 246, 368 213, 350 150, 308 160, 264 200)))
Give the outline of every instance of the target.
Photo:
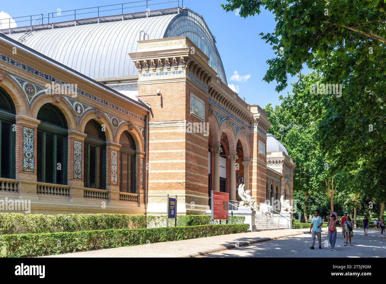
POLYGON ((37 257, 245 233, 249 224, 0 235, 2 257, 37 257))

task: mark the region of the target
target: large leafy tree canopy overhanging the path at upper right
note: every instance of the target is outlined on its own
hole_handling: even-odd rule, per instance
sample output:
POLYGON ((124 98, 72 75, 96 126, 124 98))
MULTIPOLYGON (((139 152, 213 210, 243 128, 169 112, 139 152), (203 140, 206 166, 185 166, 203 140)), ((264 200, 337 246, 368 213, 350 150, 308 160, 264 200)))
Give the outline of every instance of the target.
MULTIPOLYGON (((383 215, 386 202, 385 1, 227 2, 222 5, 223 9, 239 9, 241 17, 258 15, 261 9, 273 13, 274 31, 261 35, 276 53, 276 57, 267 60, 269 70, 264 76, 266 82, 277 82, 276 90, 283 90, 288 74, 299 74, 305 65, 316 71, 317 86, 324 88, 316 85, 310 88, 309 82, 305 85, 304 77, 298 76, 294 95, 286 101, 288 109, 297 118, 298 125, 309 123, 308 117, 313 119, 313 125, 317 125, 313 139, 318 141, 320 156, 334 163, 332 170, 340 173, 340 177, 356 169, 357 175, 346 185, 363 200, 376 201, 380 206, 379 215, 383 215), (310 92, 301 91, 307 86, 310 92), (319 92, 320 89, 323 92, 319 92), (358 189, 364 184, 366 190, 358 189)), ((335 177, 335 182, 340 180, 335 177)))

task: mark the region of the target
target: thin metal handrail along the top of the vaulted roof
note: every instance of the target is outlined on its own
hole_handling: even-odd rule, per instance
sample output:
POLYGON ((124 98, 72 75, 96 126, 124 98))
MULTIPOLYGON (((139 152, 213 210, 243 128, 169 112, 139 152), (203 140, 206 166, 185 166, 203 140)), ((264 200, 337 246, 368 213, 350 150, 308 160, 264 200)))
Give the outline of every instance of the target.
MULTIPOLYGON (((73 14, 68 14, 68 15, 61 15, 61 14, 58 15, 58 11, 56 11, 56 12, 49 12, 48 14, 46 14, 47 17, 44 17, 43 14, 39 14, 39 15, 27 15, 27 16, 14 17, 14 18, 5 18, 5 19, 0 19, 0 23, 4 25, 4 24, 7 24, 7 22, 8 22, 8 28, 5 28, 3 30, 7 30, 7 29, 10 30, 10 29, 12 29, 11 28, 11 20, 14 20, 14 22, 12 22, 12 23, 16 23, 16 24, 17 23, 22 23, 22 22, 30 22, 29 26, 28 25, 27 26, 18 26, 18 28, 19 27, 32 27, 32 17, 36 17, 36 16, 39 16, 39 18, 37 18, 37 19, 42 20, 42 24, 44 24, 44 22, 43 22, 44 18, 48 19, 48 24, 54 24, 54 21, 53 21, 54 18, 74 16, 73 20, 76 21, 77 20, 76 19, 77 15, 98 14, 98 18, 99 18, 100 17, 100 15, 99 15, 100 12, 109 12, 109 11, 116 11, 116 10, 120 10, 122 15, 124 15, 124 9, 146 7, 146 11, 147 11, 149 6, 161 5, 161 4, 169 4, 169 3, 177 3, 178 7, 176 7, 176 8, 179 8, 179 2, 180 2, 179 0, 172 0, 172 1, 161 2, 161 3, 154 3, 152 1, 155 1, 155 0, 140 0, 140 1, 132 1, 132 2, 126 2, 126 3, 119 3, 119 4, 103 5, 103 6, 98 6, 98 7, 89 7, 89 8, 75 9, 75 10, 60 11, 61 13, 73 12, 73 14), (146 2, 146 4, 144 2, 146 2), (152 2, 152 3, 148 3, 148 2, 152 2), (126 4, 133 4, 133 3, 143 3, 143 5, 124 7, 124 5, 126 5, 126 4), (120 6, 120 7, 116 8, 116 9, 100 10, 100 8, 112 7, 112 6, 120 6), (77 11, 88 10, 88 9, 98 9, 98 10, 95 10, 95 11, 92 11, 92 12, 77 13, 77 11), (57 14, 57 16, 54 17, 54 14, 57 14), (50 15, 51 15, 51 17, 50 17, 50 15), (27 19, 25 19, 25 20, 15 20, 15 19, 22 19, 22 18, 27 18, 27 19), (50 23, 50 19, 52 19, 51 23, 50 23)), ((182 0, 182 7, 183 7, 183 0, 182 0)), ((107 17, 107 16, 104 16, 104 17, 107 17)), ((1 29, 1 26, 0 26, 0 29, 1 29)))

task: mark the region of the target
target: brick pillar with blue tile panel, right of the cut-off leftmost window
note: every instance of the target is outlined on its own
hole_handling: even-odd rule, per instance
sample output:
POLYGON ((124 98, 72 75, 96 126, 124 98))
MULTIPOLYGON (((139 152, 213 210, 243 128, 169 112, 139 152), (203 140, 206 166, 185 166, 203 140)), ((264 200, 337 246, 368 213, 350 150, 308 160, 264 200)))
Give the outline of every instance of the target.
POLYGON ((36 194, 37 180, 37 125, 38 119, 16 116, 16 179, 19 194, 36 194))

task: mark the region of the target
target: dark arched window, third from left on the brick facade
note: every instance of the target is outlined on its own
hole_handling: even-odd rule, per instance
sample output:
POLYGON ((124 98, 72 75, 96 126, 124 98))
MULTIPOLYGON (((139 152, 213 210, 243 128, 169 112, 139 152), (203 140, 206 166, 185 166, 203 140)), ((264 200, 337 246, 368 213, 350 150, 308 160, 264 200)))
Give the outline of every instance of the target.
POLYGON ((90 120, 85 127, 85 187, 106 188, 106 136, 97 121, 90 120))

